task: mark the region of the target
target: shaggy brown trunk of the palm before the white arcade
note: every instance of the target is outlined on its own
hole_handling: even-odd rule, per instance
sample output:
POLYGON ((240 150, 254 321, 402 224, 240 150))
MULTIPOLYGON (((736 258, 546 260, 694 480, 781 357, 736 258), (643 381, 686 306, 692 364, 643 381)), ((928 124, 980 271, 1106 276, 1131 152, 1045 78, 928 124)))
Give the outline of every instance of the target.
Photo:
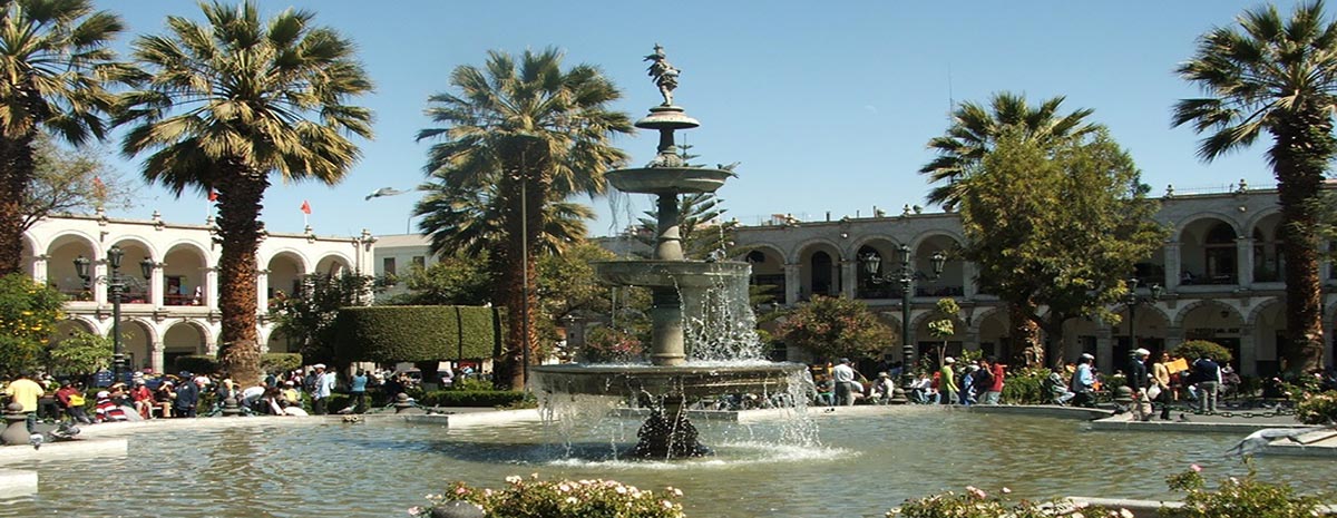
POLYGON ((218 187, 219 258, 218 306, 223 314, 218 358, 237 382, 261 379, 259 336, 257 332, 257 286, 259 270, 259 210, 269 179, 246 166, 233 166, 221 175, 218 187))

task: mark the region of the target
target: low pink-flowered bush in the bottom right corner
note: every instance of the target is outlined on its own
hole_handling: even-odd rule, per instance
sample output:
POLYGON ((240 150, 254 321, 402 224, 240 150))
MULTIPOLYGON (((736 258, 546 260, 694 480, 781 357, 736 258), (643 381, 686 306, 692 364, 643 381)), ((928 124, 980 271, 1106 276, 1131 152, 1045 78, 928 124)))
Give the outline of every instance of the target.
POLYGON ((1253 462, 1243 478, 1229 477, 1221 481, 1215 491, 1207 491, 1202 469, 1193 465, 1190 470, 1170 475, 1166 483, 1171 490, 1183 491, 1183 509, 1175 515, 1187 518, 1301 518, 1317 517, 1321 499, 1312 495, 1297 495, 1289 483, 1269 483, 1258 481, 1253 462))

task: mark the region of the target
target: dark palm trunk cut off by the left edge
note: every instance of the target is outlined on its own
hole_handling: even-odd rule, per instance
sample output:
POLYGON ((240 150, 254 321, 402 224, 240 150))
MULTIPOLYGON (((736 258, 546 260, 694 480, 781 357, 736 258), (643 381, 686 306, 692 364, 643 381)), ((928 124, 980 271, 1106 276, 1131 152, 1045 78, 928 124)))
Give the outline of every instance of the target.
POLYGON ((32 135, 0 139, 0 276, 4 276, 23 272, 23 200, 33 170, 32 135))

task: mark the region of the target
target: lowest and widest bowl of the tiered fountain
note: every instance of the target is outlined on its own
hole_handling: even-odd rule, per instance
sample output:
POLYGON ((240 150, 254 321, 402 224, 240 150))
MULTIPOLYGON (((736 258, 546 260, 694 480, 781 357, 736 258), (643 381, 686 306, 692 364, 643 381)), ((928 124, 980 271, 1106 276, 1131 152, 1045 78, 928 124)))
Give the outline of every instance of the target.
MULTIPOLYGON (((722 394, 769 395, 789 390, 802 363, 687 363, 675 367, 651 364, 548 364, 529 367, 535 390, 551 394, 626 397, 640 394, 699 399, 722 394)), ((802 378, 800 378, 802 379, 802 378)))

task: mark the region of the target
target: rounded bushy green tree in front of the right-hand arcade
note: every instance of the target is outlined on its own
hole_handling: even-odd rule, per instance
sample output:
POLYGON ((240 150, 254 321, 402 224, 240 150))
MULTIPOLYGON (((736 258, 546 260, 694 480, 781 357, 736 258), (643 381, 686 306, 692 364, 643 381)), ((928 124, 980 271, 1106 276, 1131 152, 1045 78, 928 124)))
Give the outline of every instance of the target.
MULTIPOLYGON (((1062 343, 1070 318, 1118 322, 1108 307, 1165 239, 1144 192, 1132 159, 1103 130, 1051 143, 1004 130, 963 190, 965 258, 983 291, 1062 343)), ((1034 358, 1052 359, 1047 352, 1034 358)))

